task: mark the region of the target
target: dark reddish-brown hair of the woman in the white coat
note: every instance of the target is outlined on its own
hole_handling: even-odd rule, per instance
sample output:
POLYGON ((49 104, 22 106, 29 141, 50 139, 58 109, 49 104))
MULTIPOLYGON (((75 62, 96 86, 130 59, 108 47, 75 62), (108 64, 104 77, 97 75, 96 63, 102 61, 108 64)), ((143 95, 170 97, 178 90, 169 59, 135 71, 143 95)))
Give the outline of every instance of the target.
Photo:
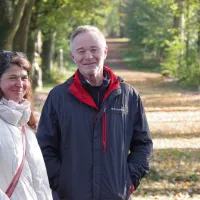
MULTIPOLYGON (((27 124, 32 129, 36 130, 37 120, 33 113, 32 85, 30 80, 30 71, 32 66, 26 58, 26 55, 21 52, 0 51, 0 78, 12 65, 17 65, 26 70, 28 73, 29 86, 24 98, 29 100, 31 103, 31 116, 27 124)), ((3 94, 0 92, 0 99, 2 97, 3 94)))

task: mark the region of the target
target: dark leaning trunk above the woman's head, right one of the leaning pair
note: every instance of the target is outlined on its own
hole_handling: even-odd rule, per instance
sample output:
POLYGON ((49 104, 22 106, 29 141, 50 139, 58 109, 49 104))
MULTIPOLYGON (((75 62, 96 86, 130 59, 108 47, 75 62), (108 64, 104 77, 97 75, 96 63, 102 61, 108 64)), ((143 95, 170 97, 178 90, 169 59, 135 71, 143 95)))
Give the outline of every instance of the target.
POLYGON ((34 6, 34 4, 35 0, 29 0, 29 2, 26 4, 20 27, 13 41, 13 49, 16 51, 22 51, 27 53, 29 24, 32 14, 32 7, 34 6))

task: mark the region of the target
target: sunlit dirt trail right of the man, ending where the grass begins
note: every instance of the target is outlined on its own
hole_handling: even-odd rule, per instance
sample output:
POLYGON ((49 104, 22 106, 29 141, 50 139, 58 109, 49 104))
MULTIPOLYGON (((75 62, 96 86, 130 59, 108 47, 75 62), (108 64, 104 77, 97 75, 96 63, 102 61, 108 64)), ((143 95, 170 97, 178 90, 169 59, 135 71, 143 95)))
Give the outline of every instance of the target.
POLYGON ((140 93, 154 137, 154 148, 200 148, 200 93, 175 88, 171 80, 164 80, 158 73, 128 69, 121 54, 128 42, 107 39, 107 44, 105 65, 140 93))

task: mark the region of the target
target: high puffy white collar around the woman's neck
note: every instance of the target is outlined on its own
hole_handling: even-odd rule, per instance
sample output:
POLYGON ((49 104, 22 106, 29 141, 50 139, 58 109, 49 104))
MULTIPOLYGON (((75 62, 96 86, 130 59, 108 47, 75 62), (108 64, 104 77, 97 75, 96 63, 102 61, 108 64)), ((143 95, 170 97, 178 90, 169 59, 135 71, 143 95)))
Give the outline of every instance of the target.
POLYGON ((29 121, 31 114, 30 102, 25 100, 18 104, 12 100, 0 100, 0 118, 14 126, 23 126, 29 121))

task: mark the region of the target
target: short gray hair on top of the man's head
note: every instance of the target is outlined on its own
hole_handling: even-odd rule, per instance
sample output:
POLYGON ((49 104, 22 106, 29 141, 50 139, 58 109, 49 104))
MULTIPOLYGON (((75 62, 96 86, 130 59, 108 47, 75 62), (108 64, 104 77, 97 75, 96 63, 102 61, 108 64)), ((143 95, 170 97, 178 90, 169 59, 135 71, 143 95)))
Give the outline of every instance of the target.
POLYGON ((90 26, 90 25, 83 25, 83 26, 78 26, 77 29, 71 34, 71 36, 70 36, 70 51, 72 51, 72 43, 77 35, 79 35, 80 33, 91 32, 91 31, 94 31, 97 34, 99 34, 99 36, 102 38, 103 46, 104 47, 107 46, 106 39, 105 39, 103 33, 97 27, 90 26))

